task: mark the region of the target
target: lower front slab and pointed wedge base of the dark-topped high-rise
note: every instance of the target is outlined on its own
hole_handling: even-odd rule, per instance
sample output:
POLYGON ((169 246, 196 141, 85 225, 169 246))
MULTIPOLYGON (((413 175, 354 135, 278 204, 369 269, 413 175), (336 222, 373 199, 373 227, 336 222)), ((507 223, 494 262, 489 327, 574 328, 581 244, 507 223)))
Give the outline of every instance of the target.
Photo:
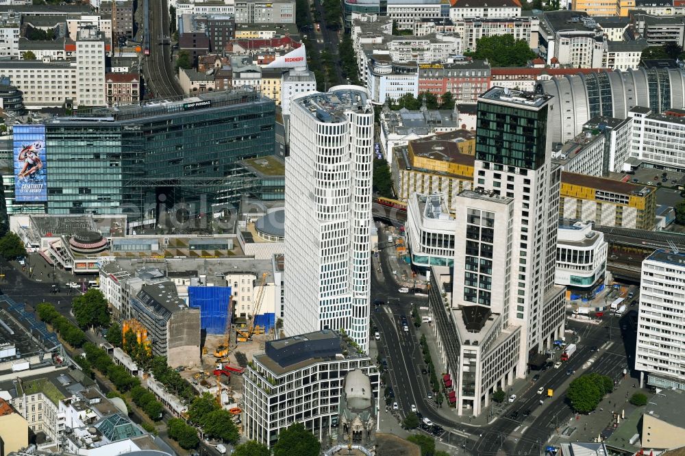
POLYGON ((510 312, 514 199, 464 190, 456 204, 453 277, 444 266, 431 274, 429 308, 443 377, 458 414, 479 415, 497 389, 507 389, 519 365, 521 326, 510 312), (451 294, 440 292, 449 289, 451 294), (434 292, 437 290, 437 292, 434 292))

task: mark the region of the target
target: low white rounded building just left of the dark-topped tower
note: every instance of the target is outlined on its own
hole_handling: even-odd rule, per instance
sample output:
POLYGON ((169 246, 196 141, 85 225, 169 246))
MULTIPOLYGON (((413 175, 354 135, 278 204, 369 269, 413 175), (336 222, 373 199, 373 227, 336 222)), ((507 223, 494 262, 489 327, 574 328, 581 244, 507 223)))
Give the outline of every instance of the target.
POLYGON ((406 236, 412 264, 419 268, 452 266, 457 223, 442 193, 412 193, 407 205, 406 236))

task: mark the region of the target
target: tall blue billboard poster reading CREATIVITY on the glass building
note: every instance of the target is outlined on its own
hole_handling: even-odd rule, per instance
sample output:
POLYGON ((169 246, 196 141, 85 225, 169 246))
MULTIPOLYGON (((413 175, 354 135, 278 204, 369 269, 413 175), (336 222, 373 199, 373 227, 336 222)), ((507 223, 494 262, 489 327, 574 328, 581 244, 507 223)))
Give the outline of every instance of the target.
POLYGON ((45 125, 15 125, 14 199, 47 201, 45 125))

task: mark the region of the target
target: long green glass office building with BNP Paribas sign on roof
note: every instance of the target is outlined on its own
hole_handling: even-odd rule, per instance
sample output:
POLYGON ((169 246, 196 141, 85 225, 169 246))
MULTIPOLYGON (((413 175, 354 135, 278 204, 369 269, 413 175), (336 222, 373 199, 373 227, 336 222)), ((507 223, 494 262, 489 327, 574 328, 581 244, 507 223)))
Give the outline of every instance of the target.
POLYGON ((201 200, 232 201, 244 186, 223 178, 239 160, 273 155, 274 125, 273 101, 248 89, 53 118, 47 212, 135 219, 160 204, 192 214, 201 200))

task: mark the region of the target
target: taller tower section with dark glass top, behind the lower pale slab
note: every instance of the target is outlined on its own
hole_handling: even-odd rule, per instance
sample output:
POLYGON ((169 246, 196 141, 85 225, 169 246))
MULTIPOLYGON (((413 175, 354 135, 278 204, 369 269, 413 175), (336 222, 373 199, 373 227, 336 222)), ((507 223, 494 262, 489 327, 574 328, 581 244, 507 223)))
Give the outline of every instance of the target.
POLYGON ((551 163, 550 100, 492 88, 477 107, 473 186, 514 199, 508 307, 510 322, 521 325, 517 377, 564 334, 564 288, 554 285, 561 168, 551 163))

